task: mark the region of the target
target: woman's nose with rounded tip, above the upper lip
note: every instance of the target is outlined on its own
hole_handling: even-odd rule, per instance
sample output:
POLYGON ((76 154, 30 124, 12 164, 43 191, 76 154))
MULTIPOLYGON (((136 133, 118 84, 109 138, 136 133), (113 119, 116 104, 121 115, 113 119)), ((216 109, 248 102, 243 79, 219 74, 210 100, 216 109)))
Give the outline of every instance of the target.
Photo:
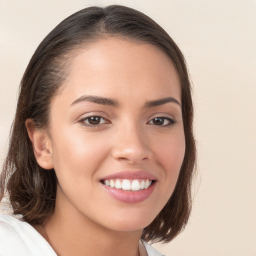
POLYGON ((139 164, 152 158, 150 141, 145 131, 133 127, 126 127, 115 134, 112 156, 116 160, 130 164, 139 164))

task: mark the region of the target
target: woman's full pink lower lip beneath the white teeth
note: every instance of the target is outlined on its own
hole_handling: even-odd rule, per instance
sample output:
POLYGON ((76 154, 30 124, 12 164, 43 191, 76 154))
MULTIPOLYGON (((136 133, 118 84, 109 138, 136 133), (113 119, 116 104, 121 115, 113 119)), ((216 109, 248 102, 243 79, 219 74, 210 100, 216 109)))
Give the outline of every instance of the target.
POLYGON ((136 203, 147 199, 154 190, 156 181, 154 181, 148 188, 136 191, 122 190, 102 184, 103 188, 115 199, 121 202, 136 203))

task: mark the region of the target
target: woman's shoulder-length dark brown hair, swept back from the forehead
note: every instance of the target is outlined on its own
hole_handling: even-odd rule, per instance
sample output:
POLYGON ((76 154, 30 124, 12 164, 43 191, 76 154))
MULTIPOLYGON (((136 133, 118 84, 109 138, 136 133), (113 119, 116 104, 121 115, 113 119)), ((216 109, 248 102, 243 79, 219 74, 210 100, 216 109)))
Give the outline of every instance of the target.
POLYGON ((155 219, 144 228, 146 241, 168 242, 183 230, 191 209, 195 163, 192 133, 191 86, 183 55, 170 36, 145 14, 121 5, 92 6, 60 22, 35 50, 20 83, 8 154, 0 177, 0 199, 8 193, 14 214, 30 224, 41 224, 55 205, 56 175, 36 162, 25 120, 47 127, 49 104, 68 73, 68 64, 82 45, 105 36, 122 37, 160 48, 169 56, 181 83, 185 155, 175 189, 155 219))

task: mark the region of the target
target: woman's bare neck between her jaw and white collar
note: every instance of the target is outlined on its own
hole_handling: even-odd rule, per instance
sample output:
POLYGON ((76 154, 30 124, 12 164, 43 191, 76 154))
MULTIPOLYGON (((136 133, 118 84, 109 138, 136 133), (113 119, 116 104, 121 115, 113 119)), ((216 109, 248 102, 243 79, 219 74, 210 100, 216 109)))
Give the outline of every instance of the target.
POLYGON ((59 208, 36 229, 49 242, 57 255, 139 256, 138 242, 142 230, 115 231, 86 218, 75 208, 59 208))

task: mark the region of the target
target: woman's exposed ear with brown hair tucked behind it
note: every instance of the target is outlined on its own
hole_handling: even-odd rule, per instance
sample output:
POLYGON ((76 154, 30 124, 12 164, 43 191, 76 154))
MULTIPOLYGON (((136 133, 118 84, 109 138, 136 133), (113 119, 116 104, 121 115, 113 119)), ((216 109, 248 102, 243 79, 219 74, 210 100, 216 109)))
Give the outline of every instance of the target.
POLYGON ((37 129, 31 118, 26 119, 25 125, 37 163, 44 169, 53 168, 52 144, 48 133, 37 129))

